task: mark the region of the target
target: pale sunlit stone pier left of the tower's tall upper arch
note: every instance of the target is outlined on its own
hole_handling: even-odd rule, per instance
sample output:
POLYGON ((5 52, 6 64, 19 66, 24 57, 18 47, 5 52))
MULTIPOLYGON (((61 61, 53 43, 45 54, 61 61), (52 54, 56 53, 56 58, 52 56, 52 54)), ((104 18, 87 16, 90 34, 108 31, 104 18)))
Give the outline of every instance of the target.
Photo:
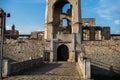
POLYGON ((46 12, 45 12, 45 25, 44 25, 44 29, 45 29, 45 34, 44 34, 44 38, 45 39, 51 39, 51 34, 53 32, 52 28, 53 28, 53 5, 52 5, 53 1, 50 0, 46 0, 46 12))

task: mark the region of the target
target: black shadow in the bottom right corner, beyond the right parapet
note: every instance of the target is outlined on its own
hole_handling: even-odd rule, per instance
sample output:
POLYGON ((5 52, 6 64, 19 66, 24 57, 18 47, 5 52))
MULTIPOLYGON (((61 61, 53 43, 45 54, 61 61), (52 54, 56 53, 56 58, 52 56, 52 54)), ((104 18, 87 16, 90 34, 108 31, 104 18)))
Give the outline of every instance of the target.
POLYGON ((91 66, 93 80, 120 80, 120 74, 114 72, 110 67, 109 70, 97 66, 91 66))

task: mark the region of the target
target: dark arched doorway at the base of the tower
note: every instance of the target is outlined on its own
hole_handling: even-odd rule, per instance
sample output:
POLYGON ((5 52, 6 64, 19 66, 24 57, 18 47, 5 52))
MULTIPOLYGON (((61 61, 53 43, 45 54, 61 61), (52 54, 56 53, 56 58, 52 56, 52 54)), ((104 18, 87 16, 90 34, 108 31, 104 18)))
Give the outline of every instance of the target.
POLYGON ((69 58, 69 49, 66 45, 61 45, 57 49, 57 61, 67 61, 69 58))

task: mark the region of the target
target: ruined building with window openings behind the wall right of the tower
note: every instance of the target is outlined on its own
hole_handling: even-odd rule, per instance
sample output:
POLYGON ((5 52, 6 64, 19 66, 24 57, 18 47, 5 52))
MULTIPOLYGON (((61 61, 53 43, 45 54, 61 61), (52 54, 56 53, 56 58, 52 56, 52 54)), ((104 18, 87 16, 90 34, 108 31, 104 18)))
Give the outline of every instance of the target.
POLYGON ((110 40, 110 27, 96 26, 95 18, 83 18, 82 36, 82 40, 110 40))

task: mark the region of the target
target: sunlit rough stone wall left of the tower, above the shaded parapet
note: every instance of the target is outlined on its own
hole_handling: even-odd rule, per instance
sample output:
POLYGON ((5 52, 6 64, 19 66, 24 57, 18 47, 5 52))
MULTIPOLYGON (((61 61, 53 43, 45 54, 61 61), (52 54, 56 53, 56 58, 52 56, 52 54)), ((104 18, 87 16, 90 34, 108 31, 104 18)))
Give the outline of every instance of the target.
POLYGON ((7 39, 4 45, 4 57, 21 62, 43 57, 44 41, 30 39, 7 39))

